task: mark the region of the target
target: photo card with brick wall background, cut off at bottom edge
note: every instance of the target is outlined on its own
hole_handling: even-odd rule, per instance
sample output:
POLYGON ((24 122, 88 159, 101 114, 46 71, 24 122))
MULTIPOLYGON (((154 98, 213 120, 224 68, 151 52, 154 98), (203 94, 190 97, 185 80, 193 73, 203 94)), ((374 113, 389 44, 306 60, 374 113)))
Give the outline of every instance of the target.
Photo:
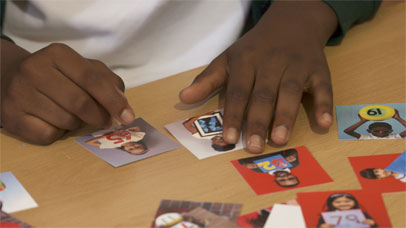
POLYGON ((162 200, 152 228, 238 227, 241 204, 162 200))

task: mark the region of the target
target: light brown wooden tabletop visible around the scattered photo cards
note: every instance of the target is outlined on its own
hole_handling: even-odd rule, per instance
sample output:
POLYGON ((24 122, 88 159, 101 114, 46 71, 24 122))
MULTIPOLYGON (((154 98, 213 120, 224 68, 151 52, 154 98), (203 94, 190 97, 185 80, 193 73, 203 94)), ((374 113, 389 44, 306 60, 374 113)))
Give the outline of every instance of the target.
MULTIPOLYGON (((405 3, 387 4, 373 20, 355 26, 341 45, 326 48, 336 105, 405 102, 405 27, 405 3)), ((130 89, 129 102, 138 116, 170 136, 164 125, 221 106, 219 96, 201 106, 179 102, 179 90, 201 70, 130 89)), ((327 134, 314 133, 301 108, 283 148, 307 146, 334 182, 257 196, 230 164, 249 156, 243 150, 197 160, 181 148, 113 168, 74 141, 93 130, 73 132, 46 147, 1 133, 1 172, 12 171, 39 204, 13 215, 37 227, 149 227, 161 199, 242 203, 244 214, 293 199, 297 192, 360 189, 348 156, 405 150, 404 140, 340 141, 336 124, 327 134)), ((267 146, 266 152, 283 148, 267 146)), ((393 226, 405 227, 405 193, 383 198, 393 226)))

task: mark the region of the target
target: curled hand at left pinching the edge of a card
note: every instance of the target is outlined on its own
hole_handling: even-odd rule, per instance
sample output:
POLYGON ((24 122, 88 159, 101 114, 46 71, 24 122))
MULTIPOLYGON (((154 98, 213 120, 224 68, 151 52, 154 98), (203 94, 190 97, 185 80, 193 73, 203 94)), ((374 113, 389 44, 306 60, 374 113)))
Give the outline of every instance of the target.
POLYGON ((49 144, 81 122, 108 127, 134 113, 124 83, 97 60, 63 44, 35 53, 1 39, 1 125, 34 144, 49 144))

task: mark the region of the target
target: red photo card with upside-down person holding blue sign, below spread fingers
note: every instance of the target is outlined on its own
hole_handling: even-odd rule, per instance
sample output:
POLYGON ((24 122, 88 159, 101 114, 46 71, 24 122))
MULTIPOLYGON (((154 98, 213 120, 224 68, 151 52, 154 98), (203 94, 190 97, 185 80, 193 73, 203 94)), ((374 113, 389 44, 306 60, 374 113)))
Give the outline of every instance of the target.
POLYGON ((332 181, 304 146, 231 163, 258 195, 332 181))

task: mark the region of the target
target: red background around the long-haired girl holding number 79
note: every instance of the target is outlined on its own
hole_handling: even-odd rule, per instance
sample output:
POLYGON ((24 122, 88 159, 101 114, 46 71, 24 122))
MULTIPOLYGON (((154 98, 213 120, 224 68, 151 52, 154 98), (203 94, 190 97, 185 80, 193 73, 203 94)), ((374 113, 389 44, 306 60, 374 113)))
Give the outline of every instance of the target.
MULTIPOLYGON (((377 226, 392 227, 381 194, 367 190, 341 190, 328 192, 305 192, 297 194, 297 201, 302 207, 307 227, 318 227, 321 213, 328 211, 327 199, 350 195, 356 199, 358 206, 351 209, 361 209, 366 218, 372 219, 377 226)), ((333 200, 334 201, 334 200, 333 200)))

